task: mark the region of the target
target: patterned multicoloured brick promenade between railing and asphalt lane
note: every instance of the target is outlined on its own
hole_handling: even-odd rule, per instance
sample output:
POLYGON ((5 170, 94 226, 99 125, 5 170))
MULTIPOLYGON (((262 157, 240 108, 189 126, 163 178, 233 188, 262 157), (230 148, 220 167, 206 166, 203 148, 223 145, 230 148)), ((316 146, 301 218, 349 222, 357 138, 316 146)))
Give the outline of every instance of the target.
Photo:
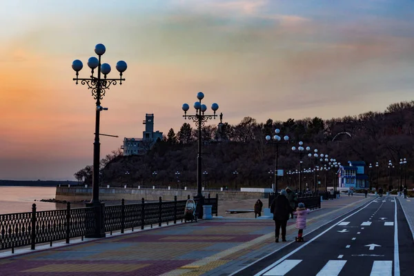
MULTIPOLYGON (((322 209, 309 215, 305 234, 373 198, 354 195, 322 202, 322 209)), ((230 275, 293 243, 297 234, 294 222, 293 219, 288 221, 288 242, 279 244, 274 242, 274 222, 271 219, 218 217, 123 235, 116 233, 105 239, 54 246, 47 250, 26 250, 26 254, 11 257, 5 257, 10 255, 7 252, 0 254, 3 257, 0 259, 0 274, 230 275)))

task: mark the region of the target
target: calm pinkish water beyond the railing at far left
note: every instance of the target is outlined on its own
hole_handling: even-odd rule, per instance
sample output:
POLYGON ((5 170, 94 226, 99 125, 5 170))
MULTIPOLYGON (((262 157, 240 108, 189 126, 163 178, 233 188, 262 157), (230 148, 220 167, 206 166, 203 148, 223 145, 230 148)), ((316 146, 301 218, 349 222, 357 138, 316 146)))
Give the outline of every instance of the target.
MULTIPOLYGON (((0 186, 0 214, 23 213, 32 210, 66 209, 66 204, 39 202, 40 199, 55 198, 56 187, 17 187, 0 186), (36 199, 36 201, 34 201, 36 199)), ((84 207, 85 204, 72 204, 72 207, 84 207)))

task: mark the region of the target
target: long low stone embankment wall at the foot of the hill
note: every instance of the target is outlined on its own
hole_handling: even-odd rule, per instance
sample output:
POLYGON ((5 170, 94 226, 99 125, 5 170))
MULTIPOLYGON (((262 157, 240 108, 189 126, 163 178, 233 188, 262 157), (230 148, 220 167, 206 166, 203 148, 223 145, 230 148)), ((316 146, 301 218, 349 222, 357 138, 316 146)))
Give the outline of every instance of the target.
MULTIPOLYGON (((268 197, 266 193, 252 193, 252 192, 230 192, 230 191, 214 191, 204 190, 203 195, 208 197, 219 196, 219 200, 239 200, 239 199, 263 199, 268 197)), ((143 197, 146 200, 159 200, 162 197, 164 201, 174 200, 177 195, 177 200, 187 199, 188 195, 193 197, 197 195, 197 190, 168 190, 168 189, 138 189, 138 188, 99 188, 99 199, 103 201, 110 200, 141 200, 143 197)), ((87 201, 92 197, 92 188, 81 187, 57 187, 57 200, 66 200, 70 202, 87 201)))

